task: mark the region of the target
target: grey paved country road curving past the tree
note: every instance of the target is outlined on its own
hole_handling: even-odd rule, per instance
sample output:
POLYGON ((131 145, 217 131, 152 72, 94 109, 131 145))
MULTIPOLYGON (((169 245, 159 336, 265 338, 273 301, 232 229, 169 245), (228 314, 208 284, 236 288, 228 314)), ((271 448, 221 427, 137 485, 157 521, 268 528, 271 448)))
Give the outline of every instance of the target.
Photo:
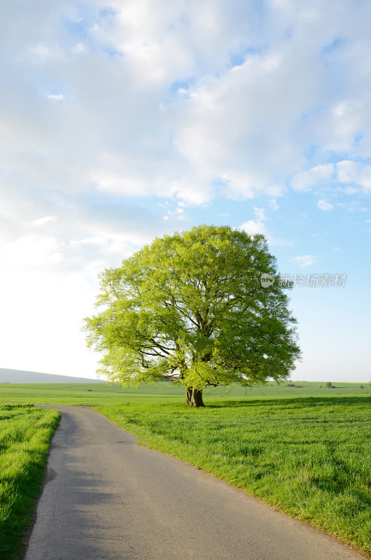
POLYGON ((362 556, 137 438, 57 406, 25 560, 344 560, 362 556))

